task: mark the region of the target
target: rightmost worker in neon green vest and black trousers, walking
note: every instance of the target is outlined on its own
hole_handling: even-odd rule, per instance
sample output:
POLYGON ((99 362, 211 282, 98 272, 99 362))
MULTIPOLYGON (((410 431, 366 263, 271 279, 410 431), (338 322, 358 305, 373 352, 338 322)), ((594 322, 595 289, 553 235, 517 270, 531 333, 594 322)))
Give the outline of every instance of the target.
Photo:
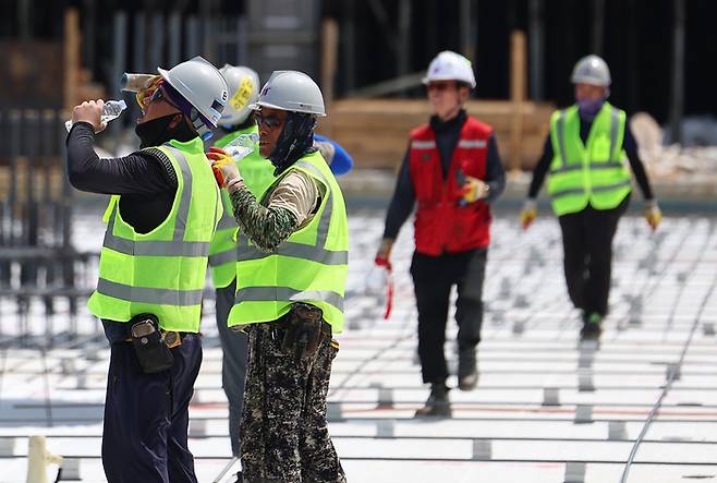
POLYGON ((581 336, 590 339, 599 337, 608 313, 612 238, 632 192, 625 158, 645 197, 645 218, 653 230, 663 215, 627 116, 607 101, 611 82, 607 63, 597 56, 584 57, 571 81, 575 104, 550 118, 521 221, 527 229, 535 220, 537 194, 549 174, 548 194, 562 231, 568 294, 583 313, 581 336))

